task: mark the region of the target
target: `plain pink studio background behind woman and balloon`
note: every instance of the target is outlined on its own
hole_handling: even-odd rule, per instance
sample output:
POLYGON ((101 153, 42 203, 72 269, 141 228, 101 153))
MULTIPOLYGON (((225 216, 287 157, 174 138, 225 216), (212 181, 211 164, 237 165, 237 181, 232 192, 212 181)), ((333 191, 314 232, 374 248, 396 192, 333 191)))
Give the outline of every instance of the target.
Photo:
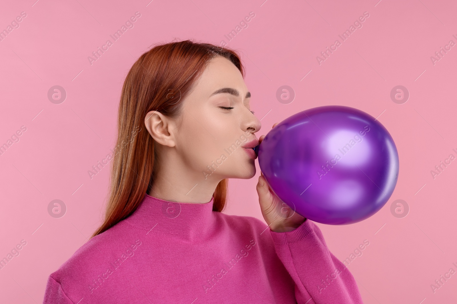
MULTIPOLYGON (((136 58, 175 37, 228 42, 224 35, 253 11, 228 46, 243 52, 251 109, 262 118, 258 136, 300 110, 338 104, 378 117, 397 145, 399 179, 383 209, 352 225, 318 223, 340 260, 363 240, 370 242, 349 266, 364 303, 456 303, 457 274, 435 293, 430 284, 449 268, 457 271, 457 161, 435 179, 430 170, 457 156, 457 46, 435 64, 430 57, 457 42, 457 4, 378 1, 3 4, 0 30, 22 11, 27 17, 0 41, 0 144, 22 125, 27 131, 0 155, 0 258, 22 239, 27 245, 0 270, 1 302, 42 303, 49 274, 99 226, 109 169, 92 180, 87 171, 114 146, 120 91, 136 58), (134 27, 90 65, 87 57, 136 11, 141 17, 134 27), (366 11, 362 27, 319 65, 320 52, 341 42, 338 35, 366 11), (63 103, 48 100, 54 85, 67 92, 63 103), (276 99, 283 85, 295 91, 292 103, 276 99), (406 103, 391 100, 397 85, 409 90, 406 103), (48 214, 54 199, 67 206, 61 218, 48 214), (409 205, 406 217, 391 213, 397 199, 409 205)), ((231 180, 225 212, 262 219, 256 182, 231 180)))

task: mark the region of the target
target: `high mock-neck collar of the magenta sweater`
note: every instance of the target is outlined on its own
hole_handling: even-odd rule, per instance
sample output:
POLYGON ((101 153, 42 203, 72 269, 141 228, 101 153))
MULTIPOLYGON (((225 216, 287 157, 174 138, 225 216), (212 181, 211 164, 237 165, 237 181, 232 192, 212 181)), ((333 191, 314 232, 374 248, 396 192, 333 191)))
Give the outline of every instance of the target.
POLYGON ((207 203, 165 201, 145 194, 138 208, 126 220, 133 226, 160 235, 171 234, 187 241, 211 233, 216 222, 214 197, 207 203))

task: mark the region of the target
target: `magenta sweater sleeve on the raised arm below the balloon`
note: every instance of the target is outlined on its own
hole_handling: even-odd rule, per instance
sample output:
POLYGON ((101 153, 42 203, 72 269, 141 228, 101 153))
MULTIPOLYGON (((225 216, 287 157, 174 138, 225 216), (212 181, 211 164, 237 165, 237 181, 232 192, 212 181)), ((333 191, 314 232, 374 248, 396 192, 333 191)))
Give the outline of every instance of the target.
POLYGON ((356 280, 327 247, 314 222, 273 232, 276 253, 295 282, 298 304, 363 304, 356 280))

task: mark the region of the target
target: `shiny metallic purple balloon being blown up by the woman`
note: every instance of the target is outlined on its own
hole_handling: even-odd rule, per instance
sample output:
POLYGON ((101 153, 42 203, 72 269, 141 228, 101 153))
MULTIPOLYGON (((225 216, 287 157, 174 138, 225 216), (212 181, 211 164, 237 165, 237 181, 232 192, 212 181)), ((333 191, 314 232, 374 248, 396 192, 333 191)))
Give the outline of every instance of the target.
POLYGON ((271 190, 311 221, 344 225, 379 211, 399 174, 387 129, 356 108, 323 106, 296 113, 256 147, 271 190))

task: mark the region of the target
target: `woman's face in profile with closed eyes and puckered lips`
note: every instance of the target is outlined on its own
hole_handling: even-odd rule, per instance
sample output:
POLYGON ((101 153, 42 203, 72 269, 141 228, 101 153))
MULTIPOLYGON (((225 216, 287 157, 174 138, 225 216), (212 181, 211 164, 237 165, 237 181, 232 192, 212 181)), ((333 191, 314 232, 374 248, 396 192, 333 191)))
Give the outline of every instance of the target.
POLYGON ((254 150, 243 146, 258 144, 254 133, 261 124, 250 111, 249 101, 238 68, 221 56, 207 63, 183 100, 175 147, 185 163, 201 173, 202 180, 255 175, 254 150))

